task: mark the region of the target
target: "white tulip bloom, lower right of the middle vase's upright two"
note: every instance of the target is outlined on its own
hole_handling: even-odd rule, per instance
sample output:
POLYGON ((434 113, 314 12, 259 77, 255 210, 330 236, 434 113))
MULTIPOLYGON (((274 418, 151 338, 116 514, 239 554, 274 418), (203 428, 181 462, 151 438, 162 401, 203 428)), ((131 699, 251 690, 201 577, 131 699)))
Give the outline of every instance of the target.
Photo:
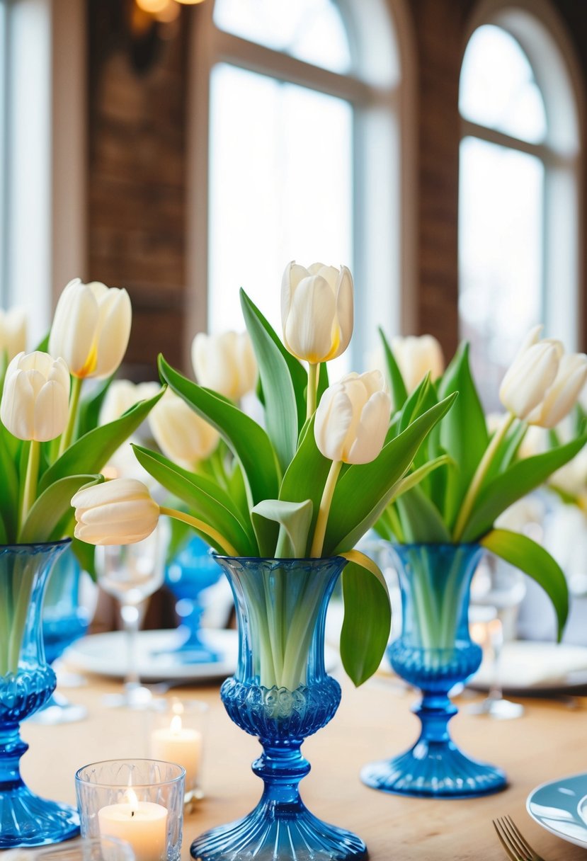
POLYGON ((316 411, 314 436, 331 461, 368 463, 385 443, 392 400, 380 371, 349 374, 326 389, 316 411))

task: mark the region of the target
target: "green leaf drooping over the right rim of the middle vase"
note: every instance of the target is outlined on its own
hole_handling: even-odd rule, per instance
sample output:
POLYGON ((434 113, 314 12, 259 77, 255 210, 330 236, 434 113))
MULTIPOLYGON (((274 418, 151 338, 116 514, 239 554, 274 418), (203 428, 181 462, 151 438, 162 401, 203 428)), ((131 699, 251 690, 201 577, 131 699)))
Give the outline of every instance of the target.
POLYGON ((358 687, 380 666, 392 625, 386 581, 374 561, 357 550, 341 554, 344 621, 340 654, 345 672, 358 687))

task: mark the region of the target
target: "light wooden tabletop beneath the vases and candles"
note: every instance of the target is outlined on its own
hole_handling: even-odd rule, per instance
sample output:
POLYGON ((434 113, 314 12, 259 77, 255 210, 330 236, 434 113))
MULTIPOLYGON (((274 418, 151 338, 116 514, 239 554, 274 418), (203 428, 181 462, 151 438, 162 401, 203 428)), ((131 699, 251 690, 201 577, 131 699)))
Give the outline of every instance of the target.
MULTIPOLYGON (((87 706, 86 720, 54 727, 27 723, 22 735, 30 750, 22 773, 40 795, 75 804, 74 772, 100 759, 145 756, 145 713, 106 709, 102 697, 120 684, 89 677, 85 687, 63 690, 87 706)), ((256 739, 227 717, 218 686, 177 688, 171 694, 210 705, 203 784, 206 798, 186 817, 182 858, 191 841, 209 827, 232 821, 253 808, 261 782, 250 771, 259 753, 256 739)), ((467 695, 466 695, 467 696, 467 695)), ((471 695, 468 695, 469 697, 471 695)), ((568 704, 526 699, 525 714, 513 721, 473 717, 461 710, 453 722, 454 739, 478 759, 502 766, 510 786, 497 795, 463 801, 403 798, 369 790, 358 774, 361 765, 400 753, 417 734, 411 715, 413 691, 390 678, 373 678, 360 689, 343 681, 343 702, 328 727, 303 748, 312 772, 301 784, 312 812, 359 834, 372 861, 503 861, 491 819, 510 814, 547 861, 587 859, 587 850, 547 833, 525 810, 528 792, 558 777, 587 771, 587 698, 568 704)), ((460 697, 460 708, 468 698, 460 697)))

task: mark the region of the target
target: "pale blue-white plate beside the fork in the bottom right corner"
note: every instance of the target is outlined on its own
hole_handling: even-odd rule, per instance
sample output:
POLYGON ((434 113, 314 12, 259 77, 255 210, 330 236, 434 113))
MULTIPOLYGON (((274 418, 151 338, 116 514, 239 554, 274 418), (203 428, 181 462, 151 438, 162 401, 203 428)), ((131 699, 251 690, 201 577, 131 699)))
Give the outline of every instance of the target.
POLYGON ((587 774, 537 786, 528 796, 526 809, 547 831, 587 848, 587 774))

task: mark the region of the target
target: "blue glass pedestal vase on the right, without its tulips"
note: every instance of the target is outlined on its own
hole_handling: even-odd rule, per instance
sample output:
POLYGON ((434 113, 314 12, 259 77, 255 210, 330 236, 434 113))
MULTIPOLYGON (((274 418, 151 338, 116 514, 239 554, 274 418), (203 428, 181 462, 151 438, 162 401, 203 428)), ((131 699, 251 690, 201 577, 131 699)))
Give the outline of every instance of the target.
POLYGON ((420 737, 406 753, 366 765, 363 783, 405 796, 462 798, 504 788, 504 772, 467 757, 448 734, 457 713, 448 692, 479 669, 468 628, 469 592, 483 548, 477 544, 399 544, 402 633, 388 648, 395 672, 422 691, 414 709, 420 737))

